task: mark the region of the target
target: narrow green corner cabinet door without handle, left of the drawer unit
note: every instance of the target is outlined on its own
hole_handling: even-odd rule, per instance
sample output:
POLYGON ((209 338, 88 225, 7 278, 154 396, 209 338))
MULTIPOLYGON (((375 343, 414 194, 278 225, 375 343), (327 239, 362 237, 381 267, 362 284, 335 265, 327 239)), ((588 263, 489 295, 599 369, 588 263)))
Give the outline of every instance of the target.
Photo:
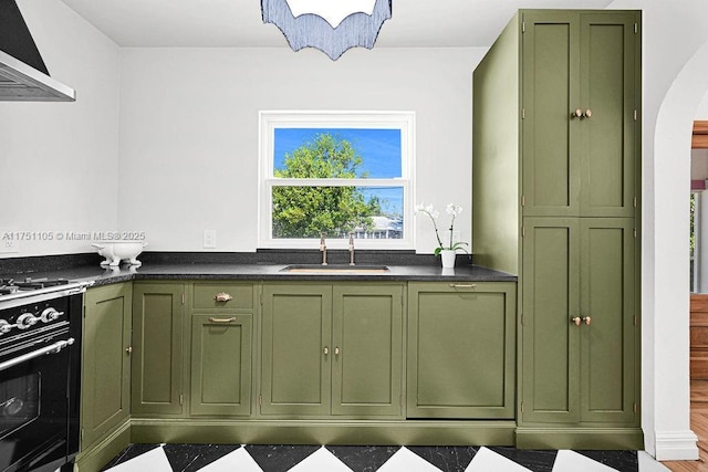
POLYGON ((133 289, 134 415, 181 415, 185 287, 138 282, 133 289))

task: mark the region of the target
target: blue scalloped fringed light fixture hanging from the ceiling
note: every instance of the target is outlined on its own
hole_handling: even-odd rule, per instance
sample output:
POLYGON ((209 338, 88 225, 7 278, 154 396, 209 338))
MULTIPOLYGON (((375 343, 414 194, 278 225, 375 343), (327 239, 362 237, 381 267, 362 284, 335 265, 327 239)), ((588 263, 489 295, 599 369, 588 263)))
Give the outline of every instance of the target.
POLYGON ((350 48, 374 48, 391 0, 261 0, 261 10, 293 51, 315 48, 336 61, 350 48))

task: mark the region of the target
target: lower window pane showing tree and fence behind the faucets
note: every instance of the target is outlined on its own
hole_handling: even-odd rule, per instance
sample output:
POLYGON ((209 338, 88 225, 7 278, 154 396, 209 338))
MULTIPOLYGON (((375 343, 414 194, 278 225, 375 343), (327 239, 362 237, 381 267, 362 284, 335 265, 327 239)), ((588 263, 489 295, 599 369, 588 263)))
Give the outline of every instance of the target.
POLYGON ((273 187, 272 237, 403 238, 403 187, 273 187))

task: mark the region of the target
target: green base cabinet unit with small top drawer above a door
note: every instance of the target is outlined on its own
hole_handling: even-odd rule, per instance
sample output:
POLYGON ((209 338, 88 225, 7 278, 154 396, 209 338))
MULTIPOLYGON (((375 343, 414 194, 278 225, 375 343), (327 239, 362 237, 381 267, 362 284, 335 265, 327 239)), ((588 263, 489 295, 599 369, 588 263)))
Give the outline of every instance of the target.
POLYGON ((256 293, 251 283, 194 283, 190 416, 251 415, 256 293))

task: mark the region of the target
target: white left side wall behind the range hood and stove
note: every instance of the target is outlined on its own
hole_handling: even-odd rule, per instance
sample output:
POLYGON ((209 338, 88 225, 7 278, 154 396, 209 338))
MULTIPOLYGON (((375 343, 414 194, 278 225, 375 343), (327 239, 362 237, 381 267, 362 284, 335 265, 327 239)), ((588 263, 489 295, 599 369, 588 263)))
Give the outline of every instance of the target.
POLYGON ((61 1, 18 4, 51 76, 76 102, 0 102, 0 238, 52 235, 0 258, 90 252, 56 234, 116 227, 119 50, 61 1))

